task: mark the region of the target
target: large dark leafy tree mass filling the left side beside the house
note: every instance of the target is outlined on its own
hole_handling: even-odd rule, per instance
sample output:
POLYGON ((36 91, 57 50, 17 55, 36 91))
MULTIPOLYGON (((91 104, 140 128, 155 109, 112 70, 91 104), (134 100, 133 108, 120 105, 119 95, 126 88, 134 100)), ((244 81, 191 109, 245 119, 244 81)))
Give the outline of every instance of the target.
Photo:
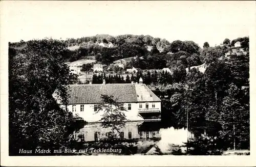
POLYGON ((61 147, 70 134, 84 126, 53 98, 67 103, 67 85, 77 81, 63 61, 66 44, 58 40, 31 40, 23 50, 9 48, 9 151, 20 148, 61 147), (26 62, 26 63, 25 63, 26 62))

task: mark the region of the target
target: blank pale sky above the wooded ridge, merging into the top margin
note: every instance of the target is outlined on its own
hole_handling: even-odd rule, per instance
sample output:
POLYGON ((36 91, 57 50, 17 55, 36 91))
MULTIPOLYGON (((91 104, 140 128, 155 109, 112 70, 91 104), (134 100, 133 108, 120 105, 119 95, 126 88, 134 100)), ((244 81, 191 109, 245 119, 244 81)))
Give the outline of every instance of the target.
POLYGON ((96 34, 192 40, 201 47, 249 36, 254 1, 2 1, 1 29, 10 42, 96 34))

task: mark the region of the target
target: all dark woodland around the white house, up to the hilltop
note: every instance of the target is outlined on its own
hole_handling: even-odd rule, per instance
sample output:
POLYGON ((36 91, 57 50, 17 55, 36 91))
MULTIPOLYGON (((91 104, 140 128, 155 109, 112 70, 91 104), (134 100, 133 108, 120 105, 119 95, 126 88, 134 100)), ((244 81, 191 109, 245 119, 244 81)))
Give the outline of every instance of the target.
POLYGON ((74 118, 63 115, 52 94, 57 90, 63 99, 67 98, 65 86, 79 81, 69 73, 65 61, 87 56, 95 56, 97 62, 105 65, 136 57, 127 67, 139 68, 137 74, 125 78, 117 74, 94 75, 93 83, 101 84, 103 79, 106 83, 138 82, 142 77, 162 100, 163 127, 185 127, 188 112, 190 129, 205 126, 206 122, 220 125, 217 130, 222 142, 218 147, 249 149, 249 38, 224 39, 223 45, 215 47, 205 42, 203 46, 200 48, 193 41, 170 43, 148 35, 9 43, 9 130, 13 151, 20 145, 66 144, 64 139, 70 131, 79 128, 72 124, 74 118), (238 41, 246 54, 226 56, 238 41), (112 43, 113 47, 99 46, 97 43, 101 42, 112 43), (74 46, 78 47, 72 50, 74 46), (152 46, 150 51, 148 46, 152 46), (201 64, 207 67, 204 73, 190 69, 201 64), (148 71, 164 67, 172 73, 148 71), (187 72, 186 68, 190 70, 187 72), (46 129, 46 125, 51 128, 46 129), (59 136, 63 141, 59 141, 59 136))

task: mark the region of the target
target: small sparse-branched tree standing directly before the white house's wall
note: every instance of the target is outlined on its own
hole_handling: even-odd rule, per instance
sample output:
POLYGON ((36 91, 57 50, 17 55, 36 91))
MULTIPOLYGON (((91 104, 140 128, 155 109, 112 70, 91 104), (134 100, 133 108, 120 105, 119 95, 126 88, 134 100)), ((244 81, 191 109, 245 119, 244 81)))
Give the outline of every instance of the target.
POLYGON ((102 103, 98 104, 95 113, 103 112, 101 122, 102 128, 111 129, 109 131, 109 139, 112 141, 118 138, 120 129, 125 126, 126 116, 124 112, 127 110, 117 102, 118 99, 113 99, 112 95, 101 95, 102 103))

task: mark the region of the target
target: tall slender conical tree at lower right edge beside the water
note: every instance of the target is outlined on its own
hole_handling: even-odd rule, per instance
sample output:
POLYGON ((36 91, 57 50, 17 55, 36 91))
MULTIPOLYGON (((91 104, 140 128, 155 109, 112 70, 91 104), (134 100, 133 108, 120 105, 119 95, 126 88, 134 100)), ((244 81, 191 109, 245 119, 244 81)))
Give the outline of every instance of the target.
POLYGON ((241 104, 241 90, 233 83, 227 90, 228 96, 224 97, 220 120, 221 137, 225 143, 223 147, 248 149, 250 138, 249 109, 241 104))

